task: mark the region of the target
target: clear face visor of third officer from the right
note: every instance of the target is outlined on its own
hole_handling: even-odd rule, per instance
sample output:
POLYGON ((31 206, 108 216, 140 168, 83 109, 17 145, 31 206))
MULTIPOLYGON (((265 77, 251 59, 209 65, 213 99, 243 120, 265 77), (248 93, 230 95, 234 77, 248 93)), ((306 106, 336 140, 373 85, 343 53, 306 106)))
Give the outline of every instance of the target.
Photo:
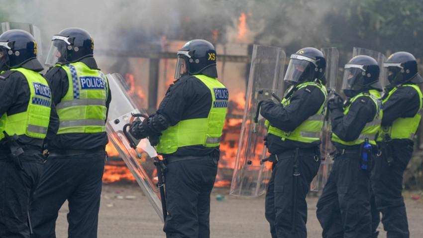
POLYGON ((296 84, 300 81, 312 80, 307 79, 306 77, 311 75, 310 70, 312 69, 310 69, 310 62, 312 62, 313 60, 300 55, 295 56, 296 58, 293 58, 293 56, 291 56, 291 60, 289 61, 284 81, 290 84, 296 84))

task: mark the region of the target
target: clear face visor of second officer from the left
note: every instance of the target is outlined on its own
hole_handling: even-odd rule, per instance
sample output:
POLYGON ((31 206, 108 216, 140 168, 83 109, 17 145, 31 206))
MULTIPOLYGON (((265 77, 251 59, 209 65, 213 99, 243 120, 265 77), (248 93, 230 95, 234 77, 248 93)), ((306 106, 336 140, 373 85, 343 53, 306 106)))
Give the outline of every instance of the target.
POLYGON ((45 65, 52 67, 57 63, 66 63, 67 47, 71 45, 68 37, 55 35, 52 39, 50 50, 47 54, 45 65))

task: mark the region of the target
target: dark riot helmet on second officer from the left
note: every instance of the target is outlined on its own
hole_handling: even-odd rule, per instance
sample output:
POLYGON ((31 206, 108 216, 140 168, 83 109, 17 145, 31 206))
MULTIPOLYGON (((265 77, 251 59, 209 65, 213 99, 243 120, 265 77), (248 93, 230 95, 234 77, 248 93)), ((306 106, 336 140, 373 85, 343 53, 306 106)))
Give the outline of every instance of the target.
POLYGON ((88 31, 71 27, 53 35, 45 65, 68 64, 93 56, 94 40, 88 31))

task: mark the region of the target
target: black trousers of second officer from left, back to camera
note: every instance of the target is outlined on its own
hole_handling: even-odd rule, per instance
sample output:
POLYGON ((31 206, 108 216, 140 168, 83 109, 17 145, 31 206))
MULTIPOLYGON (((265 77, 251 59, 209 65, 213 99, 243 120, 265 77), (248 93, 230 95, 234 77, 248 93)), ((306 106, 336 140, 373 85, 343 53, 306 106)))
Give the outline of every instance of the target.
POLYGON ((97 238, 106 152, 48 157, 31 202, 31 238, 55 238, 56 219, 68 200, 69 238, 97 238))

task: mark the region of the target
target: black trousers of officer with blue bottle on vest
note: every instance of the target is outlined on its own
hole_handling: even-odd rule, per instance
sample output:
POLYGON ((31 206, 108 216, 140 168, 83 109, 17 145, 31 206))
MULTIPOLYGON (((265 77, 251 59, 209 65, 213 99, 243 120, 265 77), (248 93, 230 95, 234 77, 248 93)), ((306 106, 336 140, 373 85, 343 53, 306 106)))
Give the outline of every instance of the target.
POLYGON ((370 238, 370 171, 361 169, 359 153, 335 157, 317 202, 323 238, 370 238))

